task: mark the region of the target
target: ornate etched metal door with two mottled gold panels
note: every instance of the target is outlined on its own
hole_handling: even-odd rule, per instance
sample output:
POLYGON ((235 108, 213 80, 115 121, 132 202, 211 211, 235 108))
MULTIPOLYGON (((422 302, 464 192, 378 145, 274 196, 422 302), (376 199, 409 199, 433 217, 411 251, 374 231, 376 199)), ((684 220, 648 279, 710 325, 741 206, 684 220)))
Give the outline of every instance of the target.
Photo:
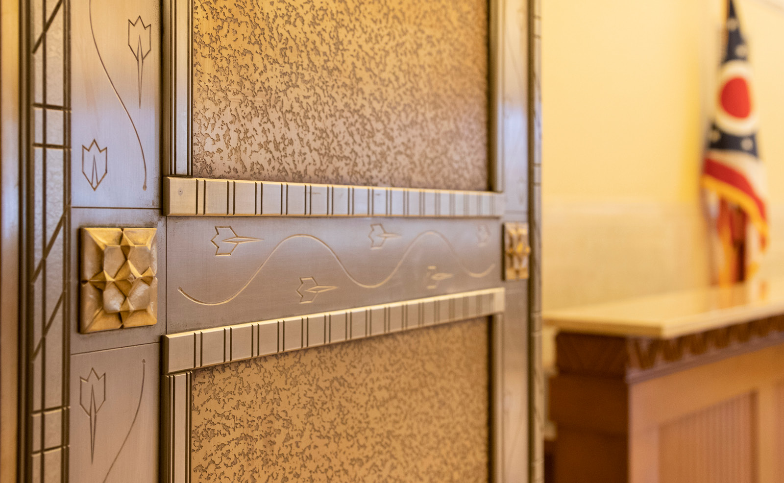
POLYGON ((20 481, 540 478, 525 2, 23 3, 20 481))

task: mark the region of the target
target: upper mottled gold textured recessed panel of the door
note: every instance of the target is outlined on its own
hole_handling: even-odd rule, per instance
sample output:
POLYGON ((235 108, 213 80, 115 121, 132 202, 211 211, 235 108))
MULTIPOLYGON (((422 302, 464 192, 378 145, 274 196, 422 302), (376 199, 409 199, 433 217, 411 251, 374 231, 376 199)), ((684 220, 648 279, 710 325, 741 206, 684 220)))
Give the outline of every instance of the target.
POLYGON ((486 0, 194 0, 194 176, 488 188, 486 0))

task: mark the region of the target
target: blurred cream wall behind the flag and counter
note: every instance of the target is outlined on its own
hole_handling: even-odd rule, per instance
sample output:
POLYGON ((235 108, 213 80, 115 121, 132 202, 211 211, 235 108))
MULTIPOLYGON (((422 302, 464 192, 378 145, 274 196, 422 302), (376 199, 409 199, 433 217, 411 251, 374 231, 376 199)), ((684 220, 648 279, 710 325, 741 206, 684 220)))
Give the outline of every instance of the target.
MULTIPOLYGON (((710 283, 698 178, 724 5, 543 1, 545 310, 710 283)), ((784 9, 735 5, 771 191, 765 271, 784 274, 784 9)))

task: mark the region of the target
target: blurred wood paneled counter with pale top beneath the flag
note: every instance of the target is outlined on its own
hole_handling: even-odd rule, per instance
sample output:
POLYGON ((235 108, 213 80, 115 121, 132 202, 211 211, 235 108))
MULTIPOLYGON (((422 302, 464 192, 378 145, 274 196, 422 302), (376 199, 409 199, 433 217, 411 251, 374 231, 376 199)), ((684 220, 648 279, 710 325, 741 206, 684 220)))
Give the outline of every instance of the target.
POLYGON ((784 481, 784 279, 544 314, 555 481, 784 481))

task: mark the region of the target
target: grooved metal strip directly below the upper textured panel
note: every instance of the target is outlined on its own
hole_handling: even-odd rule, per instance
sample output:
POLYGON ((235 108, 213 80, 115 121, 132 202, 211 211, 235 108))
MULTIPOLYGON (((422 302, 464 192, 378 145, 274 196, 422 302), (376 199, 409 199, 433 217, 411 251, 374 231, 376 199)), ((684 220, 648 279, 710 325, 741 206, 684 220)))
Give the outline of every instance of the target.
POLYGON ((168 216, 496 217, 503 194, 166 177, 168 216))

